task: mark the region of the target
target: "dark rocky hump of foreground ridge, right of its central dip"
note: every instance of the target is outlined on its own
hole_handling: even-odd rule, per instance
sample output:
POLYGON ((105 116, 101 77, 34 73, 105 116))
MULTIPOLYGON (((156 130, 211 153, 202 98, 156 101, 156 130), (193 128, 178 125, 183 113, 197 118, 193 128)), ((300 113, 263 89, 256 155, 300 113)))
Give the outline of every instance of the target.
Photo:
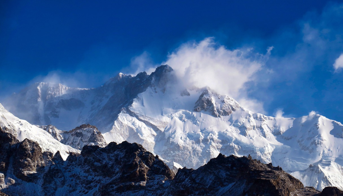
POLYGON ((179 169, 169 195, 270 195, 288 196, 303 184, 280 167, 251 157, 219 154, 197 170, 179 169))

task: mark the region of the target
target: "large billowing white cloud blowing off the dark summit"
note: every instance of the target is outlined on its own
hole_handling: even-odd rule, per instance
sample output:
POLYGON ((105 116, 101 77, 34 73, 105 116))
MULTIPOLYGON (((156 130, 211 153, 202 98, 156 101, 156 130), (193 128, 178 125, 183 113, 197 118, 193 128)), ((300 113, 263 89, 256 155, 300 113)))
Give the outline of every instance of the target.
POLYGON ((229 50, 210 37, 199 43, 182 44, 163 64, 171 66, 187 87, 208 86, 233 97, 243 107, 262 113, 262 103, 246 96, 245 84, 257 80, 255 73, 264 65, 272 49, 269 47, 266 55, 253 53, 251 48, 229 50))

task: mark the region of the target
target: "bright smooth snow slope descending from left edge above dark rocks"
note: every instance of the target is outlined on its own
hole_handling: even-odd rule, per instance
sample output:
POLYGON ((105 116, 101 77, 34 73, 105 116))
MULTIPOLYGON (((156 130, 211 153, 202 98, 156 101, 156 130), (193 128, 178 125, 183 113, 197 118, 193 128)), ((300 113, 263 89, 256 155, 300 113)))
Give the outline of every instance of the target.
POLYGON ((63 145, 54 139, 48 132, 34 125, 29 124, 26 120, 21 120, 8 112, 0 104, 0 127, 4 132, 11 133, 19 141, 31 139, 36 141, 43 152, 56 153, 60 151, 63 159, 66 159, 70 152, 79 152, 78 150, 63 145))

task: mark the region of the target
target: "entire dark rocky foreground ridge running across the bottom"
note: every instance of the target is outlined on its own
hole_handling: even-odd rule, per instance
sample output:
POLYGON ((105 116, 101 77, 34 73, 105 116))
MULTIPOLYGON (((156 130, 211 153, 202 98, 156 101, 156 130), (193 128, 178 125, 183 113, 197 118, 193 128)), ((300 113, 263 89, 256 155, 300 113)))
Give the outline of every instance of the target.
POLYGON ((219 154, 197 170, 175 175, 158 156, 137 143, 84 146, 64 161, 60 153, 42 152, 38 143, 22 142, 0 128, 0 191, 8 195, 229 195, 336 196, 303 184, 280 167, 249 157, 219 154))

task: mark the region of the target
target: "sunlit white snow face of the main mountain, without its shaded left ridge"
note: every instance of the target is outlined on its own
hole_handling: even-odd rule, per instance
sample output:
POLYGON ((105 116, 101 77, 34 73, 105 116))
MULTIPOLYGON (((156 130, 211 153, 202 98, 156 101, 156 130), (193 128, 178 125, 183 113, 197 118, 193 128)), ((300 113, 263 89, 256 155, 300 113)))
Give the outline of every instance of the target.
POLYGON ((215 93, 211 100, 218 105, 230 100, 235 107, 232 114, 215 117, 208 111, 193 112, 202 92, 189 90, 189 96, 180 96, 148 88, 122 109, 104 137, 107 142, 139 142, 163 159, 193 168, 219 153, 251 154, 286 171, 306 169, 325 156, 340 159, 343 155, 342 138, 330 134, 342 130, 341 123, 317 114, 300 118, 264 116, 215 93))

